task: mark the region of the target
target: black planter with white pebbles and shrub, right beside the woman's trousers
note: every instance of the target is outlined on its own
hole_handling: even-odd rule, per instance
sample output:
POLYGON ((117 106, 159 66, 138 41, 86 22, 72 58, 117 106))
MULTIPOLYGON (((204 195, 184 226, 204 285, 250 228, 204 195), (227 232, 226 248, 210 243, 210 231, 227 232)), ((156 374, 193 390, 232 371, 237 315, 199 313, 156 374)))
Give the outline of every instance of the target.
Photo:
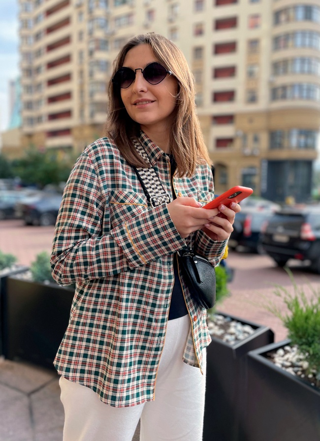
MULTIPOLYGON (((229 295, 227 275, 216 268, 217 303, 229 295)), ((212 342, 207 347, 206 398, 203 441, 242 440, 247 353, 273 342, 266 326, 233 315, 208 311, 212 342)))

